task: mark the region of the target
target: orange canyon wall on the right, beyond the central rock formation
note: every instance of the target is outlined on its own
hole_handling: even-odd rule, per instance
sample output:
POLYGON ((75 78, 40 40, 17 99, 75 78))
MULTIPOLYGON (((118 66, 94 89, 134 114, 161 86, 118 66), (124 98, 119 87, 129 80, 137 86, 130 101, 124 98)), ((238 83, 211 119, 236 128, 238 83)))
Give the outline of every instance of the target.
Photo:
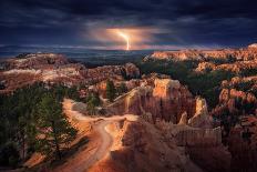
MULTIPOLYGON (((176 64, 184 67, 182 64, 186 63, 185 68, 191 68, 187 70, 189 74, 186 73, 187 83, 197 81, 199 77, 203 78, 199 84, 214 87, 212 81, 205 80, 208 79, 206 75, 214 80, 213 82, 218 81, 213 88, 213 91, 217 90, 216 93, 209 95, 210 103, 215 100, 213 97, 217 95, 209 114, 214 117, 215 125, 222 128, 223 144, 227 145, 232 153, 232 171, 255 169, 256 158, 253 153, 256 152, 256 52, 254 43, 238 49, 157 51, 144 59, 145 63, 153 61, 151 64, 158 63, 164 68, 168 67, 168 63, 174 64, 173 68, 176 64), (195 75, 193 81, 192 75, 195 75), (226 77, 222 79, 223 75, 226 77)), ((163 71, 167 70, 169 69, 163 71)), ((195 89, 198 90, 197 87, 195 89)), ((206 89, 208 88, 204 88, 206 89)), ((203 93, 205 98, 208 97, 206 93, 203 93)), ((186 120, 181 122, 186 123, 186 120)))

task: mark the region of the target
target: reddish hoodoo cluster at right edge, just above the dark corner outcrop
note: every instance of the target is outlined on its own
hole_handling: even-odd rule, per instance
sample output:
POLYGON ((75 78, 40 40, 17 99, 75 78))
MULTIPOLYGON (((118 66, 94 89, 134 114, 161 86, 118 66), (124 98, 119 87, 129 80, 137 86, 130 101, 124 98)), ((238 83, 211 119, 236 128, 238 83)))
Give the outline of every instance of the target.
POLYGON ((212 111, 212 115, 222 115, 226 112, 230 114, 256 114, 257 78, 235 77, 230 81, 223 81, 223 90, 219 93, 219 103, 212 111))

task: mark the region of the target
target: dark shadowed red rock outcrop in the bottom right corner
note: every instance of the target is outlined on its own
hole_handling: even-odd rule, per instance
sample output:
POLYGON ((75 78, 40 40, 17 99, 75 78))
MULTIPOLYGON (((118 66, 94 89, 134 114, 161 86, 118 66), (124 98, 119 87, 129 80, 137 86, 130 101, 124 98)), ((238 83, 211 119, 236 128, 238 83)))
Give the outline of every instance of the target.
POLYGON ((228 150, 233 155, 233 171, 244 169, 256 171, 257 164, 257 118, 244 115, 239 123, 232 128, 228 134, 228 150))

